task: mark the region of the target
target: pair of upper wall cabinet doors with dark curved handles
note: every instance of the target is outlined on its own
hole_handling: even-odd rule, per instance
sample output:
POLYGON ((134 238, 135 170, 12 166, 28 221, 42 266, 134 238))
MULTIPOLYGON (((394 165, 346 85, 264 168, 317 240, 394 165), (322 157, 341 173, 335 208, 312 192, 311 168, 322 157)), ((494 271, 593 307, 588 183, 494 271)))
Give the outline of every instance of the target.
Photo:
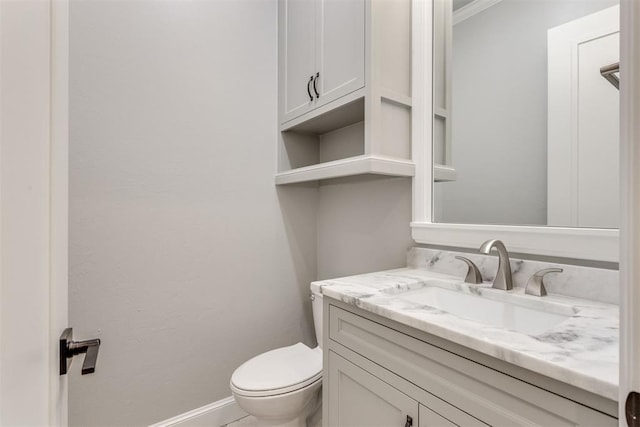
POLYGON ((364 86, 364 0, 281 0, 281 123, 364 86))

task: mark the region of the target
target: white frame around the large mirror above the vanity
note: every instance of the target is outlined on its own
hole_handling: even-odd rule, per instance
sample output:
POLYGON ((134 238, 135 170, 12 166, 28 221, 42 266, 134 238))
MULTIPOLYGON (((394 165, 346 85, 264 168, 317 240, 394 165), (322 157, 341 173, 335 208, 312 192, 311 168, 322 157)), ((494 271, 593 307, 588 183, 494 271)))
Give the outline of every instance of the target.
POLYGON ((433 0, 412 5, 411 236, 416 243, 461 248, 500 239, 512 252, 594 261, 619 261, 618 229, 447 224, 433 221, 433 0))

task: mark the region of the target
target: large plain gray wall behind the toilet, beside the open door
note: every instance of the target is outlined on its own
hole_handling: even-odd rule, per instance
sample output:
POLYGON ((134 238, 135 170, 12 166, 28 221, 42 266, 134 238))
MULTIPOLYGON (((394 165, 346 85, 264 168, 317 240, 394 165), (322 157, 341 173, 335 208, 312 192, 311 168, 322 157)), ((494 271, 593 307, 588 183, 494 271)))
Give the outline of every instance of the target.
POLYGON ((273 184, 275 1, 71 2, 70 422, 148 425, 315 344, 317 188, 273 184))

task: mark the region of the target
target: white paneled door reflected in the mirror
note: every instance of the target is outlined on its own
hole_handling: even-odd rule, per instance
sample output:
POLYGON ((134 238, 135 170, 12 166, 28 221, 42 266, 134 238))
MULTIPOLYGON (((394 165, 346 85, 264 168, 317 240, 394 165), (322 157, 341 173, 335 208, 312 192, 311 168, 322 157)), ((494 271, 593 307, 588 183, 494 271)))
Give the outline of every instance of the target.
POLYGON ((548 47, 547 223, 618 228, 620 96, 600 67, 620 60, 620 7, 550 29, 548 47))

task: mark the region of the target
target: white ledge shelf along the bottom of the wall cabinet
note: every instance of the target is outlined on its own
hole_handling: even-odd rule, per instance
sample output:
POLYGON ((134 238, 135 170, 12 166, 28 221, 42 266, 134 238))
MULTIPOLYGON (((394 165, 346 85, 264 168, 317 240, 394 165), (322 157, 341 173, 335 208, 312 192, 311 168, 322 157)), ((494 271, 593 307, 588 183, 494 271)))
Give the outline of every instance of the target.
POLYGON ((276 174, 275 179, 276 185, 283 185, 363 174, 414 176, 415 164, 410 160, 364 155, 292 169, 276 174))

